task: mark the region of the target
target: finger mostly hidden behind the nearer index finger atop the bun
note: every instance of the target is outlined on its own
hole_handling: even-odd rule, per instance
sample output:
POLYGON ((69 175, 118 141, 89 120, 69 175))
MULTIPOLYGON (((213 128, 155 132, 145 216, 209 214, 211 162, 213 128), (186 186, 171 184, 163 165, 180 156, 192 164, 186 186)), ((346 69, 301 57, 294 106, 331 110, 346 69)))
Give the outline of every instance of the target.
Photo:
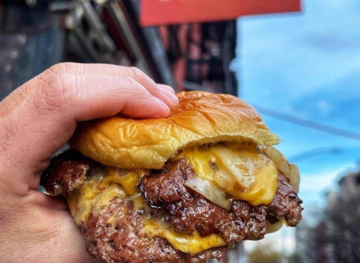
POLYGON ((168 106, 177 104, 177 97, 173 94, 164 94, 162 89, 147 75, 137 68, 129 68, 125 66, 117 66, 110 64, 78 64, 78 63, 60 63, 45 70, 39 76, 29 80, 21 87, 15 89, 3 101, 0 102, 0 116, 7 115, 14 107, 22 102, 27 96, 30 96, 36 89, 48 82, 51 78, 64 74, 84 74, 84 75, 114 75, 130 77, 139 82, 143 87, 155 97, 164 101, 168 106))

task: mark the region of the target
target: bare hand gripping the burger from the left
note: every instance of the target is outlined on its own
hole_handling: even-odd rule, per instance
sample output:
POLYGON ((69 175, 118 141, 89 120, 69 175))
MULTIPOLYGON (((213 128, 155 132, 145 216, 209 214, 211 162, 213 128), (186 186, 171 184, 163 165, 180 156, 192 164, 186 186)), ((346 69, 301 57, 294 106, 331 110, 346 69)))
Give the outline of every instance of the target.
POLYGON ((58 64, 0 102, 0 262, 93 262, 67 204, 37 192, 77 121, 167 117, 174 90, 136 68, 58 64))

